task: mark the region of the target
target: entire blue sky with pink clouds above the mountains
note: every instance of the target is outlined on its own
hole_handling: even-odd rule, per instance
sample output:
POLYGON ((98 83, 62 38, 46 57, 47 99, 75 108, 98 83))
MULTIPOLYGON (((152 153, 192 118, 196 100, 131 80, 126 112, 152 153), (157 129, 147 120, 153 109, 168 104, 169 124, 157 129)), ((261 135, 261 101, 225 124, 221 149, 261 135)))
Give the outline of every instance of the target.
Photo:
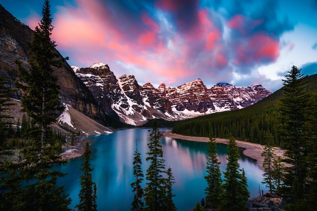
MULTIPOLYGON (((34 29, 44 0, 0 0, 34 29)), ((317 0, 51 0, 52 40, 70 65, 109 65, 142 86, 197 78, 281 88, 317 73, 317 0)))

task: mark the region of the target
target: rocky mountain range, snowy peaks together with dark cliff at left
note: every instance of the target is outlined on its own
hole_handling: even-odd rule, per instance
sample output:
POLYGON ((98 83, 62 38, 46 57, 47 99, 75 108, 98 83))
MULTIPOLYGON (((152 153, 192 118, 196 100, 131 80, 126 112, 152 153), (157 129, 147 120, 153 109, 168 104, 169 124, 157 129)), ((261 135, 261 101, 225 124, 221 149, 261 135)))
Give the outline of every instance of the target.
MULTIPOLYGON (((0 5, 0 75, 11 79, 9 86, 21 80, 16 60, 29 68, 27 42, 32 39, 33 31, 0 5)), ((237 87, 219 83, 207 88, 201 79, 178 87, 160 84, 155 88, 151 83, 141 86, 133 75, 116 77, 102 62, 84 68, 63 62, 54 74, 63 104, 111 127, 122 127, 123 123, 142 125, 153 118, 181 120, 240 109, 271 94, 260 84, 237 87)), ((15 92, 12 98, 19 100, 21 93, 15 92)))

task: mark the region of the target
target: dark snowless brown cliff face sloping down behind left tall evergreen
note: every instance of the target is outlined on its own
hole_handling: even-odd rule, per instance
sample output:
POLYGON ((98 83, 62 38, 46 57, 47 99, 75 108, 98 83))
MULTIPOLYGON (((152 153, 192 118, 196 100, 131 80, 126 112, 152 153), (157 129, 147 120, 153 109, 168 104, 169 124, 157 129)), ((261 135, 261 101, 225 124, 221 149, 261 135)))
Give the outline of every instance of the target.
MULTIPOLYGON (((11 79, 11 86, 14 86, 15 80, 19 80, 15 60, 22 61, 23 66, 29 68, 27 42, 32 39, 33 30, 22 24, 0 5, 0 74, 11 79)), ((67 62, 63 63, 63 67, 55 68, 54 74, 58 77, 62 103, 71 105, 85 115, 106 124, 106 112, 98 105, 92 93, 75 75, 67 62)), ((16 92, 12 97, 20 99, 21 94, 16 92)))

